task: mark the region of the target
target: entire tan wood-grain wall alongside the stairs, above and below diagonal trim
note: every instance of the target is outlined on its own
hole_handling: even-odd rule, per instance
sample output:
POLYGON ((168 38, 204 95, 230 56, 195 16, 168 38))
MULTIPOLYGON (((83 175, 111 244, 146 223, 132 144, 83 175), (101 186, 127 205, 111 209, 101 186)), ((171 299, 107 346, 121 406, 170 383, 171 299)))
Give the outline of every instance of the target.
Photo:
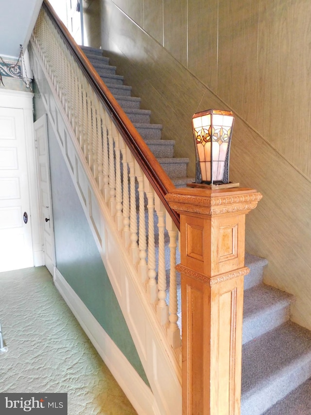
POLYGON ((265 282, 296 296, 292 319, 311 329, 311 2, 93 1, 102 48, 177 155, 193 165, 194 112, 234 110, 230 180, 263 194, 246 249, 268 259, 265 282))

